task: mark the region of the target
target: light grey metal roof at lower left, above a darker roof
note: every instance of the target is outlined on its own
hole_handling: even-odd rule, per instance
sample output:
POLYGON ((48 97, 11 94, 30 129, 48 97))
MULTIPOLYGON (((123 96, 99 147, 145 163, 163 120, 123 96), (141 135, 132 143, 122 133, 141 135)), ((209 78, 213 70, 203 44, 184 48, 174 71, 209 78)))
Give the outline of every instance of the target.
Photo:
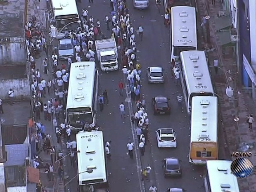
POLYGON ((28 144, 5 145, 7 161, 5 166, 24 165, 25 158, 28 156, 28 144))

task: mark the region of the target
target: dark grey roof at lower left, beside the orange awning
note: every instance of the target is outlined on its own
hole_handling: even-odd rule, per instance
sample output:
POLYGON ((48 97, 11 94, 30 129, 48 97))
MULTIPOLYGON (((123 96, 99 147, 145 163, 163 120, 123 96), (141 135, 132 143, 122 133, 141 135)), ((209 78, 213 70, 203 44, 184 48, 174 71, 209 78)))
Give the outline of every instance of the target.
POLYGON ((5 166, 6 187, 26 186, 25 166, 5 166))

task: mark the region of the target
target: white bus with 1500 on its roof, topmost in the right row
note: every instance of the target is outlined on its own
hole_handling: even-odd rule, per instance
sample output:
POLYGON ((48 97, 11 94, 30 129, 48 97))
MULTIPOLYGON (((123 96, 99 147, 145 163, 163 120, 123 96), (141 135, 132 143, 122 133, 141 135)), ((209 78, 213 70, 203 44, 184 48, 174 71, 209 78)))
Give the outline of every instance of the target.
POLYGON ((171 61, 179 63, 180 52, 197 50, 196 9, 189 6, 171 7, 171 61))

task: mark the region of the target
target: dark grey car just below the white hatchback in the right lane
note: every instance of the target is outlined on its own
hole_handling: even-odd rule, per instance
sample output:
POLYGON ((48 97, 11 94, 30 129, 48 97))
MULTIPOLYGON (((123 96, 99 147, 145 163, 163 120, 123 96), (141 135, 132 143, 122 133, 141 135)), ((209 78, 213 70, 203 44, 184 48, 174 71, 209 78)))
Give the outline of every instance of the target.
POLYGON ((180 160, 174 157, 164 159, 164 177, 166 176, 181 176, 180 160))

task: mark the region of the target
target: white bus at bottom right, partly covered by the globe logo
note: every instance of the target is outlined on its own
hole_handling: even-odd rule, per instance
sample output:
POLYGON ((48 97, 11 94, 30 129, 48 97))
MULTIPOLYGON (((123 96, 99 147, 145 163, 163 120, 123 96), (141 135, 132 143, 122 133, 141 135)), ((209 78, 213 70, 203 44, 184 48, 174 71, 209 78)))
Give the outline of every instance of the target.
POLYGON ((232 161, 216 160, 206 162, 204 188, 206 192, 239 192, 237 178, 231 173, 232 161))

